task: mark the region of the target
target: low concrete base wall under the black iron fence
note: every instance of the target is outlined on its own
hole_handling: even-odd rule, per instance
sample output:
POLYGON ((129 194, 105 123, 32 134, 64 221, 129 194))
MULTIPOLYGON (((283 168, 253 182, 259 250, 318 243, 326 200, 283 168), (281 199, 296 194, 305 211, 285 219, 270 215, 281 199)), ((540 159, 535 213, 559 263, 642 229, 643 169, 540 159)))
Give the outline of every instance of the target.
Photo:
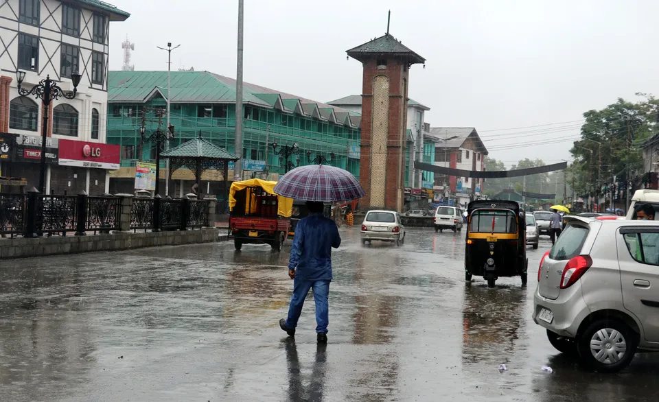
POLYGON ((95 251, 119 251, 155 246, 212 243, 226 241, 224 230, 203 228, 148 233, 116 232, 95 236, 53 236, 0 239, 0 259, 45 257, 95 251))

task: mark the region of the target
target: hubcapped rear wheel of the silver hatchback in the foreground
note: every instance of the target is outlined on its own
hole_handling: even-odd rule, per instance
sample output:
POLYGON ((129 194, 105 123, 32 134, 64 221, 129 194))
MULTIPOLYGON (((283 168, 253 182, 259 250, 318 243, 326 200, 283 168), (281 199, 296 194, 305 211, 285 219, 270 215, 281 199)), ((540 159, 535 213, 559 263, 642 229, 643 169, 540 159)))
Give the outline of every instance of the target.
POLYGON ((629 366, 636 346, 638 335, 618 320, 597 320, 577 339, 583 365, 600 373, 616 373, 629 366))

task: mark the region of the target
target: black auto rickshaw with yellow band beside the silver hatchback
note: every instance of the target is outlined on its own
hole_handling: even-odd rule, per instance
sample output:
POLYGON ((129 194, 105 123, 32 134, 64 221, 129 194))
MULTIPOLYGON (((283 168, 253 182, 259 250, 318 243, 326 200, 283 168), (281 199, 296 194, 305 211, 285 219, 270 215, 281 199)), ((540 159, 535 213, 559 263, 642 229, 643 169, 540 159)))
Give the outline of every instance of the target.
POLYGON ((467 206, 465 280, 483 276, 494 287, 502 276, 521 276, 527 284, 526 219, 516 201, 478 200, 467 206))

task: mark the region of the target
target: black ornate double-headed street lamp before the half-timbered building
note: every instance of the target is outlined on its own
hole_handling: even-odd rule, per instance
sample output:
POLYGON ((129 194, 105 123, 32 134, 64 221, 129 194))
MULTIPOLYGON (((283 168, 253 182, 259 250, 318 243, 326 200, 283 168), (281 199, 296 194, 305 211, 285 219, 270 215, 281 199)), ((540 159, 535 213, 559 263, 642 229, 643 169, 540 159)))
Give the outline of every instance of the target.
POLYGON ((46 141, 48 137, 48 107, 50 102, 54 99, 63 97, 65 99, 73 99, 78 93, 78 84, 80 84, 82 74, 71 74, 71 82, 73 83, 73 91, 62 91, 56 82, 50 79, 50 75, 46 76, 45 80, 41 80, 38 84, 30 89, 21 88, 23 80, 25 80, 25 71, 16 70, 16 81, 19 86, 19 95, 30 97, 34 96, 36 99, 41 99, 43 102, 43 127, 41 130, 41 166, 39 167, 39 192, 44 194, 46 192, 46 141))

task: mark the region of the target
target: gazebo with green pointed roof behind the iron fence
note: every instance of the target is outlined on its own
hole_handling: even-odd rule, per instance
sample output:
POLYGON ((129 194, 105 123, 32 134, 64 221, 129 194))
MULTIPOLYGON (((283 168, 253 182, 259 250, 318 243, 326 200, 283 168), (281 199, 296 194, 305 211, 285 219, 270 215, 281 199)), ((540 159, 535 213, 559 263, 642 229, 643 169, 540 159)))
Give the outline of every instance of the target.
POLYGON ((229 190, 229 161, 235 162, 238 160, 238 157, 231 154, 231 152, 203 139, 201 133, 195 139, 163 151, 161 157, 170 160, 170 179, 178 169, 189 169, 194 172, 194 181, 197 188, 200 187, 203 172, 209 169, 219 170, 222 172, 224 180, 224 197, 227 196, 229 190))

